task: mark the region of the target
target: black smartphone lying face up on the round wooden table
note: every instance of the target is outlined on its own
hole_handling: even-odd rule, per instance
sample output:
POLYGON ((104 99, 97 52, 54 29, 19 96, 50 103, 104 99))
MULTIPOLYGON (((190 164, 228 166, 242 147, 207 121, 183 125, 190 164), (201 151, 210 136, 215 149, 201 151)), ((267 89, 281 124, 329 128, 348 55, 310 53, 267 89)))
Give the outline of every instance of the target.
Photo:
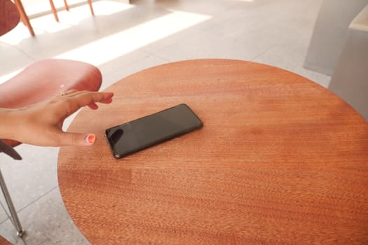
POLYGON ((203 127, 189 106, 179 104, 105 131, 115 158, 123 158, 163 141, 203 127))

